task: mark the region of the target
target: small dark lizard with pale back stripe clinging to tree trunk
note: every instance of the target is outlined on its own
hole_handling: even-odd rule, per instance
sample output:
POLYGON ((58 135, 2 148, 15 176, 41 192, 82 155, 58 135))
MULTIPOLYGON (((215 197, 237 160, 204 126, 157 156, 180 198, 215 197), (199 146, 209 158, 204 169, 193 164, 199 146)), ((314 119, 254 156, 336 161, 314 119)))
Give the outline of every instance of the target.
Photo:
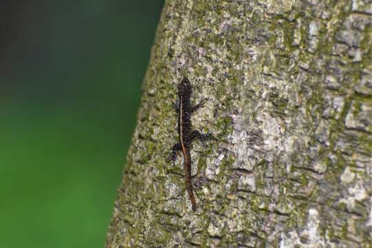
POLYGON ((184 77, 180 83, 178 83, 178 103, 176 103, 175 108, 178 114, 178 136, 179 142, 172 147, 172 157, 171 160, 174 163, 176 161, 177 152, 182 151, 183 153, 183 171, 185 173, 185 183, 187 192, 189 194, 189 199, 192 203, 192 210, 196 211, 197 205, 194 197, 194 191, 192 188, 192 158, 190 156, 190 145, 195 138, 199 141, 207 141, 212 138, 211 134, 201 134, 198 130, 192 130, 191 115, 198 108, 203 107, 207 99, 203 99, 195 106, 191 105, 191 95, 192 95, 192 85, 184 77))

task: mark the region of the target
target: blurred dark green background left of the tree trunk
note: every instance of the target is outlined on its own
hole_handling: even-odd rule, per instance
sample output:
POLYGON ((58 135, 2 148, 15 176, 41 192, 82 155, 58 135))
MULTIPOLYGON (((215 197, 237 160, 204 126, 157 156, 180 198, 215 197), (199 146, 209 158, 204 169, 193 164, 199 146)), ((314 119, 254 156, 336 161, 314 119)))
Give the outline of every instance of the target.
POLYGON ((0 248, 103 247, 163 1, 0 3, 0 248))

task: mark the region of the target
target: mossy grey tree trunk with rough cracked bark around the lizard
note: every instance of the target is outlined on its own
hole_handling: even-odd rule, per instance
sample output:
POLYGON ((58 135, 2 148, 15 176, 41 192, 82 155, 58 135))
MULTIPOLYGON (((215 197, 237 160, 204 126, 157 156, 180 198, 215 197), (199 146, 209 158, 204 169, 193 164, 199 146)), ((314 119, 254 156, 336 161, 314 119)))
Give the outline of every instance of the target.
POLYGON ((371 43, 371 0, 166 1, 106 247, 371 247, 371 43))

